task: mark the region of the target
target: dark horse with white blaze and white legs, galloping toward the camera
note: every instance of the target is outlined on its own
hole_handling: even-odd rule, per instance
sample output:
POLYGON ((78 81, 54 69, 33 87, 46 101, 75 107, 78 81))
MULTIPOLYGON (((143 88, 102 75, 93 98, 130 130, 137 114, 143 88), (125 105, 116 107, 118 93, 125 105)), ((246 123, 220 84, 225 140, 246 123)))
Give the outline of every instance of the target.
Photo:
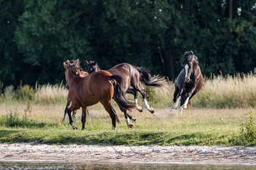
POLYGON ((182 108, 187 108, 190 99, 202 89, 204 84, 201 69, 193 51, 184 53, 182 56, 182 67, 184 67, 184 69, 180 71, 175 82, 175 92, 173 94, 173 103, 171 107, 172 112, 173 108, 177 108, 181 99, 180 114, 182 114, 182 108))

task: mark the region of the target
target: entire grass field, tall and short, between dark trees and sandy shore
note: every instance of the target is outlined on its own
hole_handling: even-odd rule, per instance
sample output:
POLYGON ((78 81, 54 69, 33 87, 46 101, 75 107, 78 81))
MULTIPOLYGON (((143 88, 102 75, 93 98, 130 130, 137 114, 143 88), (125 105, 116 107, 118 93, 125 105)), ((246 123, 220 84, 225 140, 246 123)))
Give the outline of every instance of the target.
MULTIPOLYGON (((170 114, 174 84, 169 92, 147 88, 154 115, 132 111, 138 122, 127 129, 124 115, 113 103, 118 117, 117 131, 111 131, 111 118, 100 104, 89 108, 85 131, 72 131, 68 121, 61 123, 67 89, 60 85, 24 85, 18 90, 6 87, 0 97, 0 141, 52 144, 97 145, 256 145, 256 74, 213 76, 193 97, 190 110, 170 114), (28 104, 29 99, 31 104, 28 104), (29 105, 29 106, 28 106, 29 105)), ((129 96, 132 100, 132 96, 129 96)), ((139 104, 143 106, 142 100, 139 104)), ((68 118, 67 118, 68 119, 68 118)), ((81 129, 81 110, 75 124, 81 129)))

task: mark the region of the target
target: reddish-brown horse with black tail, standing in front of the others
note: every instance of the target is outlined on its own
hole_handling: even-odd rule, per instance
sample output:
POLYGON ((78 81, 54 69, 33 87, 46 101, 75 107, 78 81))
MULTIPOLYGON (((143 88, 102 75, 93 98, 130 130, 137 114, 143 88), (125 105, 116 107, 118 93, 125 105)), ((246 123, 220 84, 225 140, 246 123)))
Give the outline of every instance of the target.
POLYGON ((129 103, 124 97, 124 87, 122 79, 119 76, 112 75, 108 71, 99 71, 90 74, 86 77, 78 76, 72 72, 72 64, 67 60, 63 62, 65 67, 65 78, 68 90, 68 103, 71 103, 67 108, 69 123, 72 129, 77 129, 71 117, 71 111, 78 110, 82 107, 82 131, 84 131, 84 123, 86 122, 86 111, 88 106, 101 103, 105 110, 108 111, 112 120, 112 129, 116 129, 116 121, 119 122, 116 111, 111 105, 111 100, 115 94, 115 101, 120 108, 131 110, 136 106, 129 103), (114 88, 115 86, 115 88, 114 88))

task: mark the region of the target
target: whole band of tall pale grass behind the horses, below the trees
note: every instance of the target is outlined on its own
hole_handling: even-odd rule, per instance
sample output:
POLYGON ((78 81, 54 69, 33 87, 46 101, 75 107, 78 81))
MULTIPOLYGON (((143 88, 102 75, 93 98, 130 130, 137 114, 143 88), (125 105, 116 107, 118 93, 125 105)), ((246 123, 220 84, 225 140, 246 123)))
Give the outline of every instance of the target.
MULTIPOLYGON (((255 70, 256 71, 256 70, 255 70)), ((236 75, 218 75, 204 79, 204 87, 191 100, 194 108, 244 108, 256 106, 256 72, 236 75)), ((173 99, 174 83, 169 82, 169 92, 164 93, 161 89, 145 87, 147 99, 153 108, 170 107, 173 99)), ((13 87, 6 87, 4 94, 1 94, 1 103, 13 103, 31 99, 38 104, 56 104, 67 101, 68 90, 60 83, 59 85, 36 85, 35 89, 21 87, 20 90, 13 90, 13 87), (35 95, 33 94, 35 93, 35 95), (19 97, 22 96, 22 97, 19 97)), ((133 101, 133 96, 129 95, 133 101)), ((141 95, 139 104, 143 106, 141 95)))

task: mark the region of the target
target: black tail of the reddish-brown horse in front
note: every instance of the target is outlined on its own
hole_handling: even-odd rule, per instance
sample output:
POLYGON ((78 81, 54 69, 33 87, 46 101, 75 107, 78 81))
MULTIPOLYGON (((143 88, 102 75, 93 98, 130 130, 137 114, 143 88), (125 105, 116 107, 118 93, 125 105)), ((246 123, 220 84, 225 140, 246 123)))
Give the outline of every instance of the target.
POLYGON ((114 96, 113 99, 116 101, 120 109, 123 111, 124 109, 131 111, 132 108, 136 108, 134 103, 127 101, 125 98, 125 89, 124 83, 120 76, 110 76, 110 80, 115 80, 114 85, 114 96))

